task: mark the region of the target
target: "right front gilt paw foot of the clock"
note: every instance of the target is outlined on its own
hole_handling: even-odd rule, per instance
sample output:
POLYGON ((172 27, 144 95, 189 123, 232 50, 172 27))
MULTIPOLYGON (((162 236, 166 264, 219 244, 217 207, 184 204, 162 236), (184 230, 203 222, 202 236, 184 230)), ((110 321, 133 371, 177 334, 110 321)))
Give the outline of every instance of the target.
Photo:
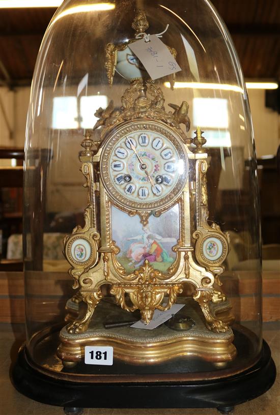
POLYGON ((209 308, 209 303, 212 300, 213 294, 213 289, 207 290, 198 288, 193 294, 193 299, 199 303, 208 329, 216 333, 224 333, 229 330, 229 326, 223 321, 218 320, 209 308))

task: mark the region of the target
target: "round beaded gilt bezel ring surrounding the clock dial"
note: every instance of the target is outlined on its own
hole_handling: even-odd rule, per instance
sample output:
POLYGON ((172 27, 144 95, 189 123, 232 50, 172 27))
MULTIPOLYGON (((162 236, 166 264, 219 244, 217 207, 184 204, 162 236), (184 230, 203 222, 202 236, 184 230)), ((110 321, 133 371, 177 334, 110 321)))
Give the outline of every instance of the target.
POLYGON ((178 133, 171 127, 159 121, 151 120, 137 120, 133 122, 122 123, 117 129, 111 131, 103 145, 103 150, 100 156, 100 176, 104 188, 107 191, 108 196, 120 207, 129 208, 132 211, 151 211, 163 209, 167 205, 171 205, 183 191, 185 183, 187 181, 188 172, 188 157, 184 144, 181 142, 181 138, 178 133), (133 201, 122 195, 112 183, 109 173, 109 159, 111 152, 114 150, 116 144, 123 139, 123 137, 129 133, 135 131, 153 131, 162 134, 175 146, 180 159, 184 160, 184 172, 179 176, 176 185, 170 191, 169 194, 165 194, 158 200, 152 202, 133 201))

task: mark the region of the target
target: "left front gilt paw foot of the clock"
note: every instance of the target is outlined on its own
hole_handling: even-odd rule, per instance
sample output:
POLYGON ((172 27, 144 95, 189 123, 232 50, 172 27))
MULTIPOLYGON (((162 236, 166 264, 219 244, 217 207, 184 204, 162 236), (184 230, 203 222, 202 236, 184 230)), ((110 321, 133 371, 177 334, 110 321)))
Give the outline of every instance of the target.
POLYGON ((66 326, 66 330, 70 334, 83 333, 89 328, 89 324, 94 313, 95 307, 103 297, 101 291, 98 292, 81 292, 82 300, 87 304, 88 309, 82 319, 72 321, 66 326))

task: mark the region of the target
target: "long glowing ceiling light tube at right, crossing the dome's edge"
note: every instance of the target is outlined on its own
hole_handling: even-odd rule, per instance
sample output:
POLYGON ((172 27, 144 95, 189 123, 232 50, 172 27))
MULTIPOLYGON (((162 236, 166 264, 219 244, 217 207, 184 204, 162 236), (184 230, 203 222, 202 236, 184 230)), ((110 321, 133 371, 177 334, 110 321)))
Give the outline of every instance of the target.
MULTIPOLYGON (((170 88, 169 82, 164 82, 164 86, 170 88)), ((258 90, 276 90, 278 84, 276 82, 246 82, 246 87, 258 90)), ((228 83, 210 83, 210 82, 175 82, 174 88, 197 88, 199 90, 223 90, 244 93, 243 89, 238 85, 228 83)))

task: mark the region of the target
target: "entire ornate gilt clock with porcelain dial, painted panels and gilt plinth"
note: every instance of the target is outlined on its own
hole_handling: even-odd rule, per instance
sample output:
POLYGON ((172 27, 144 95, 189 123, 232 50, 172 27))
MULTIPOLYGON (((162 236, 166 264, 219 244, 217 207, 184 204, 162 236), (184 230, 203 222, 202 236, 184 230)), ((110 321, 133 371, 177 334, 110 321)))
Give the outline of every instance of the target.
MULTIPOLYGON (((144 36, 148 22, 143 12, 137 12, 132 27, 144 36)), ((187 354, 229 361, 236 354, 229 327, 234 318, 219 281, 229 237, 208 223, 206 139, 200 128, 193 139, 187 137, 185 101, 169 104, 173 111, 165 109, 161 88, 129 48, 134 41, 106 46, 109 83, 116 70, 130 85, 120 108, 111 101, 96 111, 96 135, 87 133, 81 143, 88 206, 85 226, 64 239, 77 292, 67 303, 69 322, 61 331, 58 355, 71 366, 82 358, 85 345, 112 344, 117 357, 130 363, 187 354), (150 337, 131 328, 122 335, 106 332, 102 313, 95 319, 97 305, 101 310, 108 296, 104 286, 120 309, 139 310, 146 324, 156 309, 179 302, 195 325, 184 333, 166 325, 150 337), (79 307, 82 302, 85 310, 79 307)))

